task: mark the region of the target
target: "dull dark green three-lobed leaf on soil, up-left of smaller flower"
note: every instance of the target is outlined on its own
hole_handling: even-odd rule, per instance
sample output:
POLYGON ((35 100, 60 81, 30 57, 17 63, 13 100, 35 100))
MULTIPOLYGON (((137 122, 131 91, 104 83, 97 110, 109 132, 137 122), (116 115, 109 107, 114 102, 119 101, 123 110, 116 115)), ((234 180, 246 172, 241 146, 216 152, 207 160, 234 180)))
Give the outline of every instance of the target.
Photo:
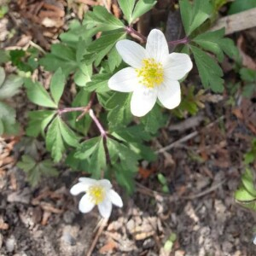
POLYGON ((27 154, 22 156, 22 159, 17 163, 17 166, 26 172, 27 180, 32 187, 39 183, 42 176, 55 177, 58 175, 58 171, 50 160, 37 162, 27 154))

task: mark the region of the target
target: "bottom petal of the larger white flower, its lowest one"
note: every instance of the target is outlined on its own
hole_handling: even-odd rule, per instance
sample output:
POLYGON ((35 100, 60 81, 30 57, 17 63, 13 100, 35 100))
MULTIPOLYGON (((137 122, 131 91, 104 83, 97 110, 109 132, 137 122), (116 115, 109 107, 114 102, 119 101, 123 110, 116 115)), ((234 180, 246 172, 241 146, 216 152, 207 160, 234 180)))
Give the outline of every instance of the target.
POLYGON ((139 84, 131 96, 131 113, 135 116, 142 117, 154 107, 156 98, 157 89, 148 89, 139 84))

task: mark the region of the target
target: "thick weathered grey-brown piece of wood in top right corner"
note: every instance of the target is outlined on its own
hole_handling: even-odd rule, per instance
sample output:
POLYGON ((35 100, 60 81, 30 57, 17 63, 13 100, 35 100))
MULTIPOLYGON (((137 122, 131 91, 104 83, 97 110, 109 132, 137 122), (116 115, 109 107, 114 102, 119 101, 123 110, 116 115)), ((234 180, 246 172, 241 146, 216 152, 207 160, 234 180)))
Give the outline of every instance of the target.
POLYGON ((256 8, 249 9, 236 15, 229 15, 219 19, 215 26, 212 26, 211 31, 225 27, 225 34, 230 35, 234 32, 239 32, 256 26, 256 8))

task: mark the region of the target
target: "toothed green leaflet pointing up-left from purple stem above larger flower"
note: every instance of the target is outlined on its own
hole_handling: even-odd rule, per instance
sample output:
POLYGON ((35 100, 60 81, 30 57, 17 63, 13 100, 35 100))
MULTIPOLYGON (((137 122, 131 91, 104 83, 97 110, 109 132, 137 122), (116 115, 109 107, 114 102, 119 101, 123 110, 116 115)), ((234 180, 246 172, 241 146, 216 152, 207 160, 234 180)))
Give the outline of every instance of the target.
POLYGON ((84 18, 84 24, 90 26, 97 26, 95 31, 108 31, 124 27, 121 20, 108 13, 108 10, 102 6, 96 6, 92 12, 87 12, 84 18))

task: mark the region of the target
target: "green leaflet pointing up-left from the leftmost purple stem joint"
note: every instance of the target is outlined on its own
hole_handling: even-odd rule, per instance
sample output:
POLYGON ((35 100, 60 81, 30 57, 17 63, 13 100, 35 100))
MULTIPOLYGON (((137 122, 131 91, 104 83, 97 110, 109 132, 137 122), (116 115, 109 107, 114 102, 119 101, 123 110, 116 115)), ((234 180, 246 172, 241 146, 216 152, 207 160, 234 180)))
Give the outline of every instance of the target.
POLYGON ((38 82, 33 83, 31 79, 25 79, 25 87, 26 95, 31 102, 41 107, 58 108, 42 84, 38 82))

